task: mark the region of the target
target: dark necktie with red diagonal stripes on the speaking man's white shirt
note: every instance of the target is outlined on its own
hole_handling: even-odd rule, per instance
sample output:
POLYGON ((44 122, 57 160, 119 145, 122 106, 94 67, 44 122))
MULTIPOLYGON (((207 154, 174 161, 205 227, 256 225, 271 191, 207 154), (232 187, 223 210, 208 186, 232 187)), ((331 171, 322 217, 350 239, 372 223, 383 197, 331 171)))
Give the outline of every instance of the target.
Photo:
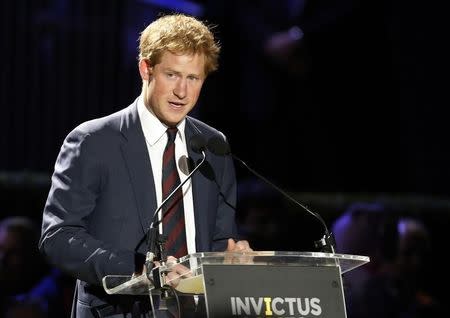
MULTIPOLYGON (((175 137, 177 128, 168 128, 168 141, 163 155, 162 199, 180 184, 175 160, 175 137)), ((166 253, 176 258, 187 254, 186 231, 184 223, 183 190, 180 188, 163 206, 163 233, 167 236, 166 253)))

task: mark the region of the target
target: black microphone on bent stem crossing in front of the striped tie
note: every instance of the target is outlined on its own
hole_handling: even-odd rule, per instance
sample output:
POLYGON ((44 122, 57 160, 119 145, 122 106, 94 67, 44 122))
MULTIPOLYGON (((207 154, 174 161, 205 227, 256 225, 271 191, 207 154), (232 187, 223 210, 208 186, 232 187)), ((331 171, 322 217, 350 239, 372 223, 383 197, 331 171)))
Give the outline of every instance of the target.
MULTIPOLYGON (((151 280, 150 273, 151 269, 153 267, 153 261, 154 260, 160 260, 161 262, 166 261, 166 255, 164 255, 164 243, 166 238, 163 235, 159 234, 158 225, 161 222, 158 220, 158 213, 161 211, 161 209, 164 207, 164 205, 169 201, 173 195, 180 189, 191 177, 192 175, 200 168, 200 166, 205 162, 206 159, 206 139, 200 135, 194 135, 189 140, 189 146, 191 149, 196 153, 202 154, 202 160, 199 162, 197 166, 195 166, 194 169, 187 175, 187 177, 184 179, 183 182, 181 182, 169 195, 161 202, 161 204, 156 208, 155 212, 152 216, 152 222, 147 230, 147 246, 148 251, 145 259, 145 266, 147 269, 147 277, 151 280), (156 257, 156 259, 155 259, 156 257)), ((162 215, 161 220, 164 218, 164 215, 162 215)), ((156 276, 156 275, 155 275, 156 276)), ((160 284, 159 279, 154 277, 154 280, 160 284)), ((155 284, 156 286, 156 284, 155 284)))

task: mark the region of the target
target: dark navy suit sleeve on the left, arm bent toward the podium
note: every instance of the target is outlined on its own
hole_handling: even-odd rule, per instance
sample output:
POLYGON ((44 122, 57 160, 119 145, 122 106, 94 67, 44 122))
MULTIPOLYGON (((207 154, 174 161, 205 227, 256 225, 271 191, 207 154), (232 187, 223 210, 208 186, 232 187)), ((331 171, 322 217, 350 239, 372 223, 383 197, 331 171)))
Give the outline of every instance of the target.
POLYGON ((69 275, 100 285, 105 275, 132 274, 144 256, 116 249, 89 232, 105 177, 98 149, 95 138, 79 128, 64 140, 43 211, 39 249, 69 275))

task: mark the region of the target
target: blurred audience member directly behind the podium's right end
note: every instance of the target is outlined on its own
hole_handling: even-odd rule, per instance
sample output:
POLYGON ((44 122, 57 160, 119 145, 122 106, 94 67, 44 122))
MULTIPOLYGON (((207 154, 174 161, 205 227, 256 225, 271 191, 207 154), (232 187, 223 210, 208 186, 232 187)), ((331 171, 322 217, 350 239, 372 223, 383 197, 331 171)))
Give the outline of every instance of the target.
POLYGON ((383 204, 355 202, 335 220, 332 232, 337 253, 370 257, 368 264, 342 277, 348 318, 366 317, 367 284, 395 257, 396 218, 383 204))

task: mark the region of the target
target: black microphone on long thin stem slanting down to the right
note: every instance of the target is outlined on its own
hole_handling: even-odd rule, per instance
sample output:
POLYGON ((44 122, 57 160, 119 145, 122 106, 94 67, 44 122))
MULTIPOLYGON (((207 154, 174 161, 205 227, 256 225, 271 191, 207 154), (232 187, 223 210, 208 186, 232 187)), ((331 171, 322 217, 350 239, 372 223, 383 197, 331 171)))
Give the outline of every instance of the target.
POLYGON ((278 187, 277 185, 270 182, 267 178, 263 177, 261 174, 250 168, 242 159, 238 158, 236 155, 234 155, 231 152, 230 145, 221 137, 215 136, 208 140, 207 148, 209 151, 211 151, 213 154, 218 156, 226 156, 230 155, 233 159, 240 162, 245 168, 247 168, 251 173, 253 173, 255 176, 257 176, 259 179, 263 180, 265 183, 267 183, 270 187, 277 190, 279 193, 281 193, 284 197, 288 198, 292 202, 294 202, 296 205, 300 206, 303 210, 310 213, 312 216, 314 216, 319 222, 322 224, 324 228, 324 236, 317 241, 314 241, 314 247, 319 248, 322 252, 326 253, 334 253, 336 242, 334 240, 333 234, 328 230, 327 224, 323 220, 323 218, 320 216, 320 214, 311 211, 308 209, 304 204, 301 204, 297 200, 295 200, 292 196, 290 196, 286 191, 278 187))

